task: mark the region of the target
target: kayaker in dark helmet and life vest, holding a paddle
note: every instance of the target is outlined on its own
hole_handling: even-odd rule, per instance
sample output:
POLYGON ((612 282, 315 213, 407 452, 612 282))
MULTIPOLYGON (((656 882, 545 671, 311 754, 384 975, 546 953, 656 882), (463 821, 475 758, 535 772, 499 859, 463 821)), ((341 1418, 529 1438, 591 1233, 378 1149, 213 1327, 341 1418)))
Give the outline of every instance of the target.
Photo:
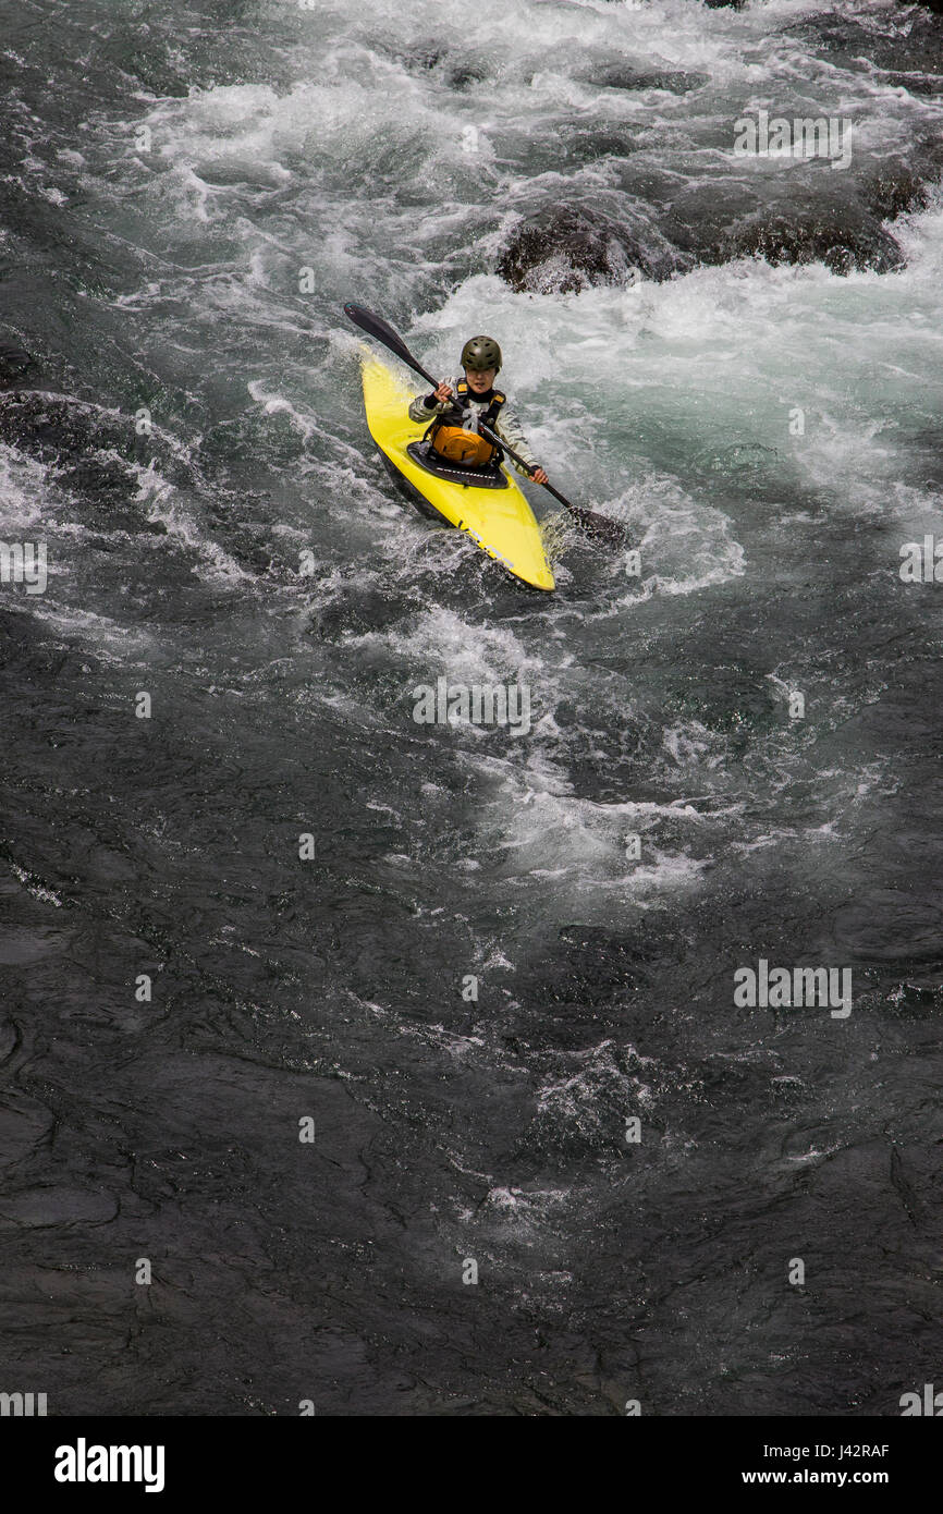
POLYGON ((534 483, 546 483, 546 474, 531 456, 507 397, 495 389, 501 368, 501 348, 495 339, 472 336, 462 348, 462 368, 465 378, 443 378, 431 394, 416 395, 409 407, 410 421, 430 421, 425 435, 433 451, 465 468, 484 468, 500 460, 492 442, 478 433, 481 422, 521 454, 527 466, 512 459, 519 474, 534 483))

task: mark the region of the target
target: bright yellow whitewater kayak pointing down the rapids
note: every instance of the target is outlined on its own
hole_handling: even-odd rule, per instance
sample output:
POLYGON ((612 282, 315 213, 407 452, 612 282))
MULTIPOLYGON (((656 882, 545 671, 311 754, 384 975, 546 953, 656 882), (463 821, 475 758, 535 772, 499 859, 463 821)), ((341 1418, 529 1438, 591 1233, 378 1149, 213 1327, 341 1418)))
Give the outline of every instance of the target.
POLYGON ((386 363, 363 357, 363 404, 369 435, 397 484, 419 504, 457 525, 495 562, 531 589, 552 589, 540 528, 527 498, 504 468, 460 468, 427 457, 425 425, 407 415, 412 392, 386 363), (431 509, 430 509, 431 507, 431 509))

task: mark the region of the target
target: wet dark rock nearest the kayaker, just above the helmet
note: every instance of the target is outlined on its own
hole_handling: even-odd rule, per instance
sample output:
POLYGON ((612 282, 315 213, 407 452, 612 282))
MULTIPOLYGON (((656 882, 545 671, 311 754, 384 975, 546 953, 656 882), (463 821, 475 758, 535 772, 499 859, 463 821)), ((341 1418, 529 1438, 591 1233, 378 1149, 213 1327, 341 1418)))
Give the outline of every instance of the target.
POLYGON ((518 292, 572 294, 637 276, 660 282, 689 266, 640 217, 628 227, 586 206, 548 206, 513 230, 496 273, 518 292))

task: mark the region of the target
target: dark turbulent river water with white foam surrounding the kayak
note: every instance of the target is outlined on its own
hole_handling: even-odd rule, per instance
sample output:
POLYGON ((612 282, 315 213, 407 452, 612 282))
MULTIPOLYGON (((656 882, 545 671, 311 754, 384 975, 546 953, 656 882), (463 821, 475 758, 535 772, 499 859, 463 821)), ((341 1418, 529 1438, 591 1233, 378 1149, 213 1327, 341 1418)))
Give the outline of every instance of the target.
POLYGON ((48 562, 0 586, 0 1388, 899 1414, 943 20, 0 0, 0 536, 48 562), (737 151, 761 112, 849 160, 737 151), (496 336, 627 550, 525 486, 539 595, 404 504, 347 300, 437 374, 496 336), (530 718, 418 724, 439 680, 530 718))

